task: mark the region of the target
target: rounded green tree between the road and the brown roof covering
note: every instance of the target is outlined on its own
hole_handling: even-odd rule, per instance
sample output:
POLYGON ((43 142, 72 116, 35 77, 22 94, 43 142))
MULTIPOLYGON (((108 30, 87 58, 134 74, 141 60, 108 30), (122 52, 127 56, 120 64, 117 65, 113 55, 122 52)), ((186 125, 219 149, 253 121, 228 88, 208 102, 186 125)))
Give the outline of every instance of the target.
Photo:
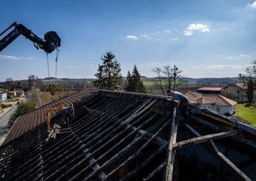
POLYGON ((36 106, 31 102, 21 102, 20 105, 17 106, 15 112, 12 113, 10 119, 8 120, 8 128, 11 129, 15 120, 20 116, 24 115, 28 112, 35 110, 36 106))

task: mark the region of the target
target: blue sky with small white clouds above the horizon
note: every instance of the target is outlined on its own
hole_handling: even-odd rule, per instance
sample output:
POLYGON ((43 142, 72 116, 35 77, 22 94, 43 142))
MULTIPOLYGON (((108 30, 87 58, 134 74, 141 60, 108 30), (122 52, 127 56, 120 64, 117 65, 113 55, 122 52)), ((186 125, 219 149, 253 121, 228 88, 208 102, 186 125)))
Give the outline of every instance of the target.
MULTIPOLYGON (((149 77, 167 64, 193 78, 237 76, 256 59, 255 0, 4 0, 0 16, 0 32, 16 21, 39 37, 58 33, 60 78, 93 78, 106 52, 116 55, 123 76, 134 64, 149 77)), ((47 77, 46 54, 19 36, 0 52, 0 81, 30 74, 47 77)))

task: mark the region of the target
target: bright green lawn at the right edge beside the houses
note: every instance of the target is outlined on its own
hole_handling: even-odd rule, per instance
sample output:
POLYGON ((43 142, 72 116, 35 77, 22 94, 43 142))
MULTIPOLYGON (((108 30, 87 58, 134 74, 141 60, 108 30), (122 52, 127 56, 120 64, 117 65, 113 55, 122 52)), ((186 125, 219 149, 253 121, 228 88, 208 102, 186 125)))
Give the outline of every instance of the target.
POLYGON ((252 106, 249 103, 237 104, 236 115, 251 122, 252 126, 256 126, 256 103, 252 106))

